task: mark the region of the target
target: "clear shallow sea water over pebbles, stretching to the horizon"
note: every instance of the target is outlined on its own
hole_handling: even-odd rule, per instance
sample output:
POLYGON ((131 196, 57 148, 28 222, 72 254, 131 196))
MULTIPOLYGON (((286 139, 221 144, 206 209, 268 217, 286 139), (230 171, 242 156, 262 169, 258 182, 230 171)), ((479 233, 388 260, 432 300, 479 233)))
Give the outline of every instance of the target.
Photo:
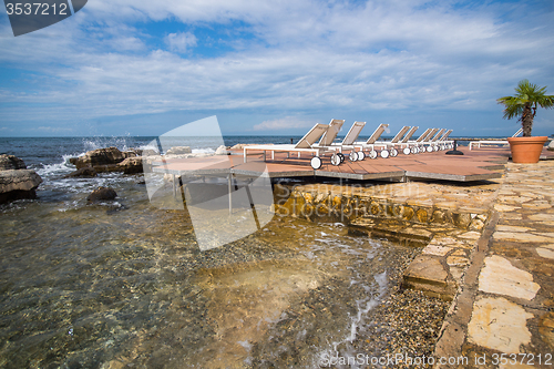
MULTIPOLYGON (((153 206, 142 174, 64 177, 70 157, 154 140, 0 137, 0 153, 43 180, 35 199, 0 205, 0 368, 319 368, 355 357, 414 250, 275 216, 203 252, 187 213, 153 206), (99 186, 115 201, 89 203, 99 186)), ((213 153, 218 143, 183 145, 213 153)))

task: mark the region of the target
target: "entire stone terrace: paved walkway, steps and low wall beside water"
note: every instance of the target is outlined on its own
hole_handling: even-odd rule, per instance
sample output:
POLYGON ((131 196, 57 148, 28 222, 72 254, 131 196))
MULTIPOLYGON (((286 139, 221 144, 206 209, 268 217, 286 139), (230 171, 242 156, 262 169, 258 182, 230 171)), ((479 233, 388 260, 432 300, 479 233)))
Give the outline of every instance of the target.
POLYGON ((437 367, 552 368, 552 173, 546 161, 509 163, 502 178, 471 185, 296 185, 276 211, 315 221, 338 208, 353 232, 424 246, 404 287, 454 299, 435 358, 465 359, 437 367))

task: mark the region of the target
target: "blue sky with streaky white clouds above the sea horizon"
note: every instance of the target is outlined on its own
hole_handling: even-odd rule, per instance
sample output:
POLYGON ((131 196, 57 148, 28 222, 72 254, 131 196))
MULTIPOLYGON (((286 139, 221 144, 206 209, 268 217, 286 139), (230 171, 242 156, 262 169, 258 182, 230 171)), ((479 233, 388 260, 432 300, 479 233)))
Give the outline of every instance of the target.
MULTIPOLYGON (((0 136, 302 134, 345 119, 513 134, 497 98, 554 94, 554 2, 89 0, 14 38, 0 14, 0 136)), ((540 110, 534 135, 554 134, 540 110)))

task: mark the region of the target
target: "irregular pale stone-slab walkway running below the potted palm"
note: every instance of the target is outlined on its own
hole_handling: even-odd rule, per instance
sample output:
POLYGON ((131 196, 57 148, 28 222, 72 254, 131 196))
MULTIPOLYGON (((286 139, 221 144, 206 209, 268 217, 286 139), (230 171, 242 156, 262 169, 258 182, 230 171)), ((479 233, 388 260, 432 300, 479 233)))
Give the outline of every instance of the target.
POLYGON ((554 162, 509 163, 439 339, 443 368, 554 367, 554 162))

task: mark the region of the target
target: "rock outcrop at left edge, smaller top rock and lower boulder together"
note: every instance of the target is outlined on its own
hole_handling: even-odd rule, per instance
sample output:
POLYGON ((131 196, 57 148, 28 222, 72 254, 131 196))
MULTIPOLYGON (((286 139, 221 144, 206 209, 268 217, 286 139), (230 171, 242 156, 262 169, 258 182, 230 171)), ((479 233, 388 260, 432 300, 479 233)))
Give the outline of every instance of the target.
POLYGON ((0 155, 0 204, 22 198, 35 198, 42 178, 13 155, 0 155))

